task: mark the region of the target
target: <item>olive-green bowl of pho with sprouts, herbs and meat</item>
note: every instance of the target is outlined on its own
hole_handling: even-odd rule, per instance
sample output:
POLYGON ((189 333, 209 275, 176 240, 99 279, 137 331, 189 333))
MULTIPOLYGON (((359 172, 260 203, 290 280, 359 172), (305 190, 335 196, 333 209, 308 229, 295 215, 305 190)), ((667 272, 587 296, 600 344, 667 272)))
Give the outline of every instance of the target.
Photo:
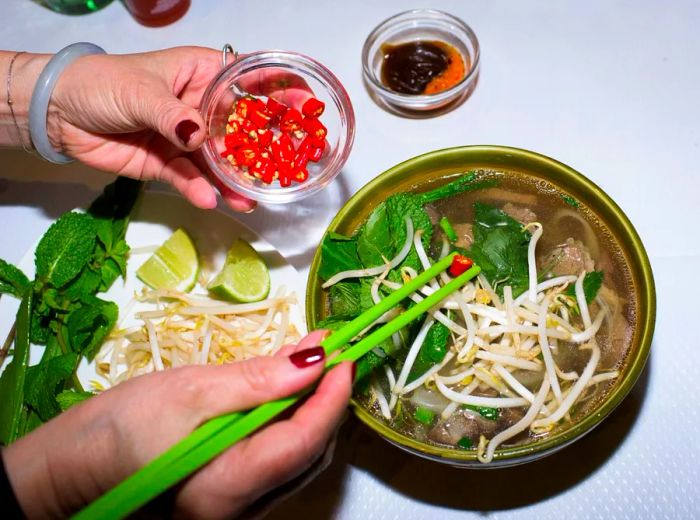
POLYGON ((341 327, 454 251, 481 273, 358 361, 357 417, 411 453, 483 468, 541 458, 598 425, 649 355, 653 275, 617 204, 548 157, 467 146, 377 176, 316 253, 309 327, 341 327))

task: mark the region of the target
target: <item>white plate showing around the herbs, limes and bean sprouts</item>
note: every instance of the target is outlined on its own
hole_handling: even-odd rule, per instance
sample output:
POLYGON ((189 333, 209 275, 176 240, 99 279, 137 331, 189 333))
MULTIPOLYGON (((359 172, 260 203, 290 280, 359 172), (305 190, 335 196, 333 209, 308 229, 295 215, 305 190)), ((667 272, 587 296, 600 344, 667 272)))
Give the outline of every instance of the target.
MULTIPOLYGON (((302 276, 272 245, 226 213, 197 209, 177 195, 145 191, 132 212, 126 241, 132 248, 158 246, 179 227, 186 229, 193 238, 202 260, 202 269, 209 274, 216 273, 221 268, 226 251, 235 239, 242 238, 249 242, 262 255, 270 269, 270 294, 275 294, 281 286, 286 287, 287 293, 290 291, 296 293, 298 303, 291 309, 291 322, 300 331, 306 330, 302 312, 305 287, 302 276)), ((30 278, 34 275, 36 244, 22 257, 18 265, 30 278)), ((115 302, 121 313, 132 299, 134 292, 140 291, 143 287, 141 281, 136 278, 136 270, 149 256, 150 253, 132 255, 127 263, 126 280, 117 279, 108 292, 98 296, 115 302)), ((9 296, 0 298, 0 332, 3 332, 0 337, 2 339, 12 326, 18 307, 19 302, 16 299, 9 296)), ((133 314, 133 311, 130 314, 133 314)), ((124 325, 128 324, 129 321, 124 322, 124 325)), ((37 363, 42 352, 42 346, 33 345, 29 353, 29 363, 37 363)), ((101 381, 94 364, 88 363, 85 359, 78 367, 78 378, 86 389, 90 387, 90 381, 101 381)))

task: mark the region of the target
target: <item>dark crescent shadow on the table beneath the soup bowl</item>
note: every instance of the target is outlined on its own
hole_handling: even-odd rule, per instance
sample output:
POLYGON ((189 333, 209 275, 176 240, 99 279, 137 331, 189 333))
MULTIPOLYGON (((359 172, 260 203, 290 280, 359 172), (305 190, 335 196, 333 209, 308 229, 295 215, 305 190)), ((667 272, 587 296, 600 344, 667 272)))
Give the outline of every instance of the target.
POLYGON ((514 509, 564 493, 593 475, 624 442, 641 413, 651 363, 650 357, 635 387, 601 426, 550 457, 513 468, 466 470, 420 459, 353 417, 340 431, 331 467, 268 518, 332 517, 343 500, 349 465, 412 500, 465 511, 514 509))

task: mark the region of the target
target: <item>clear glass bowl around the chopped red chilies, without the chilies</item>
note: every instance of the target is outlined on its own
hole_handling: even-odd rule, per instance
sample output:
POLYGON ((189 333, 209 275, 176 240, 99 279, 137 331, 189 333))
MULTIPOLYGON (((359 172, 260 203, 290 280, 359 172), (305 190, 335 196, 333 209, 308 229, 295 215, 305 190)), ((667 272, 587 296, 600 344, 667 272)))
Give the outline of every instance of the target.
POLYGON ((225 186, 253 200, 269 203, 294 202, 323 189, 340 173, 350 154, 355 136, 355 114, 345 88, 333 73, 316 60, 288 51, 260 51, 246 54, 225 67, 204 93, 201 106, 207 127, 202 154, 212 174, 225 186), (309 178, 283 188, 277 181, 265 184, 251 179, 227 159, 224 151, 226 124, 236 100, 246 95, 270 94, 294 108, 311 95, 323 101, 320 117, 328 129, 321 160, 307 166, 309 178))

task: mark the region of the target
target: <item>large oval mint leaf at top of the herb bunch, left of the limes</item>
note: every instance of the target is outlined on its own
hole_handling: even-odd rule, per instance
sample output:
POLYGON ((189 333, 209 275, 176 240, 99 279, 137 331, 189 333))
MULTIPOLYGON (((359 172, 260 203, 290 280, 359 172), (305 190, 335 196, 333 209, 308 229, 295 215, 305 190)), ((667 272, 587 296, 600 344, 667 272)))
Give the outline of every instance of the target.
POLYGON ((66 213, 44 234, 34 255, 36 277, 61 288, 78 276, 95 249, 97 228, 84 213, 66 213))

